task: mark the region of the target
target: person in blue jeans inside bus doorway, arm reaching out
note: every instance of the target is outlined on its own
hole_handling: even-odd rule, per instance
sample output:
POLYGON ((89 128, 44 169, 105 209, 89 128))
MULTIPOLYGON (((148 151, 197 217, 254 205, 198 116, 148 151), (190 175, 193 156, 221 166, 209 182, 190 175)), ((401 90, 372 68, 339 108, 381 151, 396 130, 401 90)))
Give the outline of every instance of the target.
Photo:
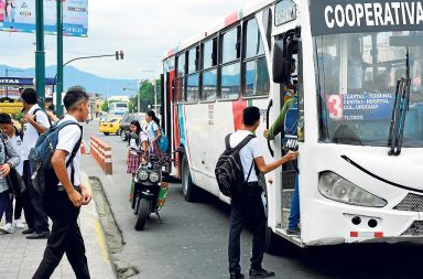
MULTIPOLYGON (((263 132, 264 138, 268 140, 273 140, 274 137, 284 131, 284 137, 295 137, 297 135, 297 103, 299 98, 295 94, 291 99, 285 101, 282 107, 281 112, 276 121, 268 130, 263 132), (288 116, 289 115, 289 116, 288 116), (290 119, 289 119, 290 118, 290 119)), ((294 194, 292 195, 291 208, 290 208, 290 218, 286 229, 289 235, 301 235, 301 229, 299 227, 300 223, 300 194, 299 194, 299 174, 295 173, 295 187, 294 194)))

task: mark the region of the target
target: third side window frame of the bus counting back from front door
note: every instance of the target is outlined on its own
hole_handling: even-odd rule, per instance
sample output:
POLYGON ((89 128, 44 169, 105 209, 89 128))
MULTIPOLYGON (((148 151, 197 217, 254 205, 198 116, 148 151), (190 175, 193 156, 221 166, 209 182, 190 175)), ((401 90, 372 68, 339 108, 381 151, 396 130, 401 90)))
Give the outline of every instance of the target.
POLYGON ((198 73, 199 73, 199 76, 198 76, 198 85, 199 85, 199 90, 198 90, 198 103, 199 104, 213 104, 213 103, 216 103, 218 100, 218 86, 219 86, 219 34, 213 34, 212 36, 207 37, 206 40, 204 40, 203 42, 199 43, 199 69, 198 69, 198 73), (204 45, 208 42, 212 42, 212 47, 213 47, 213 41, 216 40, 216 44, 217 44, 217 47, 216 47, 216 65, 213 65, 213 58, 212 58, 212 67, 207 67, 207 68, 204 68, 204 45), (204 72, 209 72, 209 71, 214 71, 216 69, 216 94, 215 94, 215 99, 214 100, 203 100, 202 97, 203 97, 203 73, 204 72))

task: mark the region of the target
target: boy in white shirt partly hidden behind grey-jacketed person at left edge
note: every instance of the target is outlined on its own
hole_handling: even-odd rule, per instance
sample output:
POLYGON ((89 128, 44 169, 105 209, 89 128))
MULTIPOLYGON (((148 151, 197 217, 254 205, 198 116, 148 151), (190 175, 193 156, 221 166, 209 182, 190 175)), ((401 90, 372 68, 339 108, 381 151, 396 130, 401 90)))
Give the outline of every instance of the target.
MULTIPOLYGON (((12 118, 8 114, 0 114, 0 129, 8 136, 8 139, 13 148, 14 151, 17 151, 20 162, 15 167, 18 173, 22 175, 23 171, 23 161, 22 161, 22 138, 21 133, 19 132, 18 128, 13 126, 12 118)), ((21 221, 21 214, 23 208, 23 200, 20 196, 15 196, 13 198, 13 195, 10 194, 9 204, 6 207, 6 226, 0 228, 3 233, 12 234, 13 233, 13 226, 17 228, 23 228, 23 224, 21 221), (15 200, 14 205, 14 222, 12 223, 13 218, 13 200, 15 200)))

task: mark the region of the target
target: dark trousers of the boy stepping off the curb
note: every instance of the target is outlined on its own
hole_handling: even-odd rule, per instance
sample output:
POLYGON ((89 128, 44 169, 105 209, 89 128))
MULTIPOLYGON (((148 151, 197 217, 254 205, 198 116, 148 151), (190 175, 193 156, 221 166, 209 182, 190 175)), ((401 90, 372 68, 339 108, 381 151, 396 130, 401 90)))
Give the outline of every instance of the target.
POLYGON ((44 196, 43 203, 48 217, 53 221, 53 226, 43 260, 33 279, 50 278, 65 253, 75 277, 90 278, 84 239, 77 223, 79 208, 72 204, 65 191, 56 191, 50 196, 44 196))

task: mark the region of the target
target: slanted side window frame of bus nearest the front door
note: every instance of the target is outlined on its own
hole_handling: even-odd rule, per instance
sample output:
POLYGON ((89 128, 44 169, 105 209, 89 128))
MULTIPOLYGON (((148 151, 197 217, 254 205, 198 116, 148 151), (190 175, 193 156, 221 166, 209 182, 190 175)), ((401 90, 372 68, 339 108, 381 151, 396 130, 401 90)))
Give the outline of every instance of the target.
MULTIPOLYGON (((265 60, 265 63, 267 63, 267 66, 268 65, 268 61, 267 61, 267 57, 265 57, 265 51, 264 51, 264 47, 265 47, 265 44, 263 43, 263 40, 262 40, 262 45, 263 45, 263 53, 262 54, 259 54, 259 55, 256 55, 256 56, 252 56, 252 57, 248 57, 246 58, 246 49, 247 49, 247 25, 248 25, 248 22, 250 20, 256 20, 256 23, 257 23, 257 26, 258 26, 258 31, 260 33, 260 39, 262 40, 263 36, 260 32, 260 26, 259 26, 259 21, 257 20, 256 18, 256 14, 251 15, 251 17, 248 17, 248 18, 245 18, 242 20, 242 44, 241 44, 241 94, 240 94, 240 97, 241 99, 265 99, 265 98, 269 98, 269 95, 270 95, 270 87, 269 87, 269 92, 268 94, 265 95, 260 95, 260 96, 250 96, 250 97, 246 97, 245 96, 245 93, 246 93, 246 87, 245 87, 245 82, 246 82, 246 74, 247 74, 247 63, 249 62, 253 62, 253 61, 258 61, 260 58, 263 58, 265 60)), ((269 71, 268 71, 268 76, 269 76, 269 85, 271 84, 271 81, 270 81, 270 74, 269 74, 269 71)))

